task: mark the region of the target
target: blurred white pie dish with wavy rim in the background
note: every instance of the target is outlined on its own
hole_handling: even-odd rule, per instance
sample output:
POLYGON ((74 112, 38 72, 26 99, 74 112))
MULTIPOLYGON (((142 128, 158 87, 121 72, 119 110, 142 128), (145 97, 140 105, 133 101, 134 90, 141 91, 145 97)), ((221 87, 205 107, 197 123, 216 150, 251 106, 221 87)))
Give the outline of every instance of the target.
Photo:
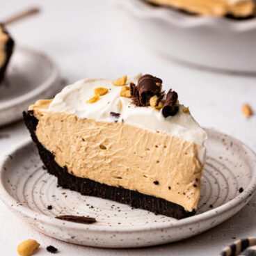
MULTIPOLYGON (((256 18, 202 17, 155 7, 143 0, 118 1, 136 40, 163 56, 215 70, 256 72, 256 18)), ((132 38, 130 38, 132 40, 132 38)))

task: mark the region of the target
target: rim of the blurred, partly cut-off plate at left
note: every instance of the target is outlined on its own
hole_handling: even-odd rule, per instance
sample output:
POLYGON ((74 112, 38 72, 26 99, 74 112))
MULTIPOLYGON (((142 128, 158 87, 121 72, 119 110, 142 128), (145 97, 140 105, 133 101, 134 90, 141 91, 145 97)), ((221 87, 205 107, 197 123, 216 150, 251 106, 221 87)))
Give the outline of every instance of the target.
MULTIPOLYGON (((25 47, 23 45, 18 45, 15 47, 15 51, 23 51, 23 52, 29 52, 30 54, 35 54, 37 56, 41 56, 45 59, 45 61, 49 64, 51 67, 51 74, 45 81, 40 83, 39 86, 34 88, 33 90, 30 90, 27 93, 24 93, 23 95, 19 95, 18 97, 15 97, 13 99, 8 100, 7 102, 3 102, 0 104, 0 111, 4 111, 10 107, 17 106, 19 104, 24 104, 25 102, 29 102, 31 99, 36 97, 37 95, 40 95, 45 90, 48 90, 49 87, 54 84, 58 80, 58 67, 54 63, 54 61, 51 60, 51 58, 45 54, 42 51, 39 51, 37 49, 33 49, 31 47, 25 47)), ((14 53, 15 54, 15 53, 14 53)))

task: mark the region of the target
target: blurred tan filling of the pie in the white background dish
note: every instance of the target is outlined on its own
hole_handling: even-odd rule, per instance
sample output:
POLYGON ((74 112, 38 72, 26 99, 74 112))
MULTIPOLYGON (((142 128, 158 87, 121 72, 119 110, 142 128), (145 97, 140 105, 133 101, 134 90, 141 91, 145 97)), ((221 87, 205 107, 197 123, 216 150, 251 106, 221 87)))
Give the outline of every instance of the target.
POLYGON ((255 14, 255 3, 250 0, 147 0, 164 6, 186 10, 199 15, 248 17, 255 14))

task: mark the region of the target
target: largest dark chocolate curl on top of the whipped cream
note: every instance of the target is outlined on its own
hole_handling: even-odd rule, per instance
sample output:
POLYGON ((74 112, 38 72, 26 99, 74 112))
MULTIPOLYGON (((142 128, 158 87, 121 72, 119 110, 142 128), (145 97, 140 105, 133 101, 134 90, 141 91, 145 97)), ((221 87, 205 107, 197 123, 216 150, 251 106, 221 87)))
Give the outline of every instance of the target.
POLYGON ((131 83, 130 90, 133 103, 136 106, 149 106, 151 97, 161 95, 161 83, 161 79, 153 77, 151 74, 145 74, 138 79, 137 86, 131 83), (160 83, 160 85, 157 85, 157 83, 160 83))

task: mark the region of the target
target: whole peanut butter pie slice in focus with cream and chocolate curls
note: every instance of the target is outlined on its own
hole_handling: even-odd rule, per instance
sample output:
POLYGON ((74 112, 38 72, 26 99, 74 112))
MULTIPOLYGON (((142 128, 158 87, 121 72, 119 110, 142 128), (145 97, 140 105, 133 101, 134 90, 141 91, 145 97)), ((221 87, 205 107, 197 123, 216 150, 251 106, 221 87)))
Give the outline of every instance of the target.
POLYGON ((150 74, 85 79, 40 99, 24 121, 58 185, 156 214, 195 214, 207 134, 150 74))

